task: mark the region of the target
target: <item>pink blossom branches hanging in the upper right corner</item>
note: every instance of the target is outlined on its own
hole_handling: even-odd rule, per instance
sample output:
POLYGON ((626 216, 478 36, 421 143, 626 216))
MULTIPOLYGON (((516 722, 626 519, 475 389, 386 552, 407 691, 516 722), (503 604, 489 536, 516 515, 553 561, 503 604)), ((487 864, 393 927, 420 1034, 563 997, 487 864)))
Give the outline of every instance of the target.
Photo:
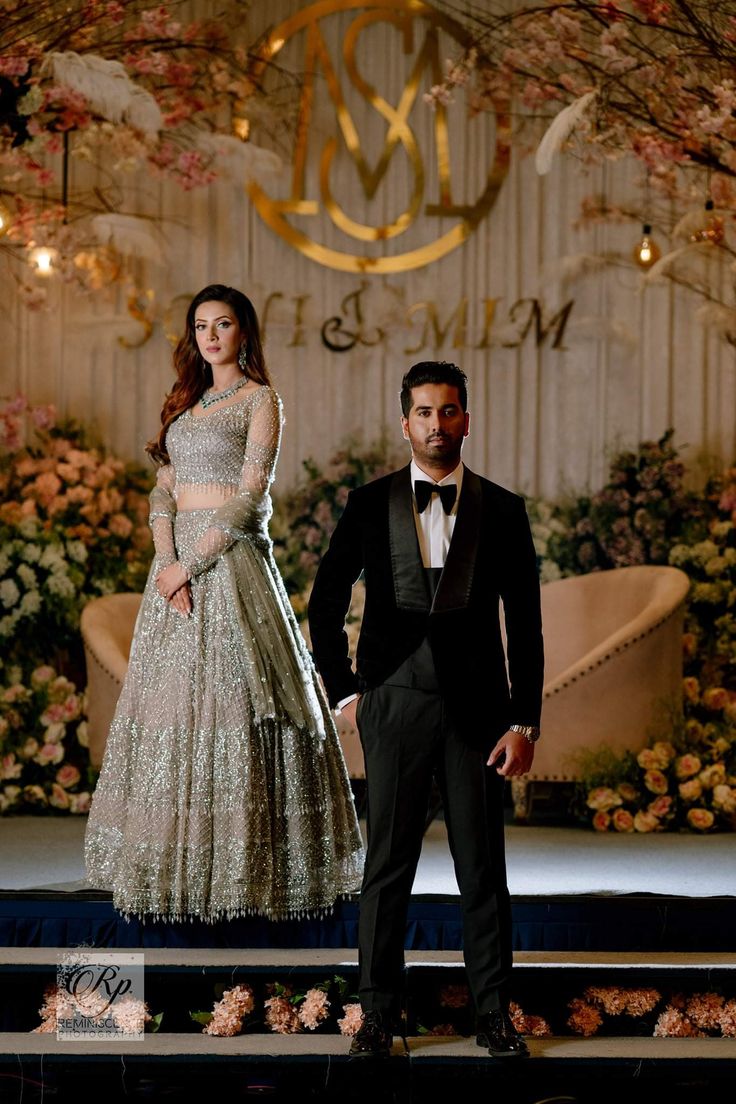
MULTIPOLYGON (((529 0, 487 2, 460 15, 461 56, 425 97, 433 107, 465 88, 471 112, 514 120, 516 145, 535 150, 540 173, 561 150, 586 166, 629 158, 641 171, 639 198, 587 195, 576 226, 637 222, 649 237, 670 237, 640 259, 644 282, 671 279, 702 298, 697 319, 736 339, 729 266, 736 209, 734 7, 710 0, 529 0), (540 140, 541 139, 541 140, 540 140), (642 227, 643 224, 643 227, 642 227)), ((442 108, 444 109, 444 108, 442 108)), ((577 254, 567 275, 621 254, 577 254)))

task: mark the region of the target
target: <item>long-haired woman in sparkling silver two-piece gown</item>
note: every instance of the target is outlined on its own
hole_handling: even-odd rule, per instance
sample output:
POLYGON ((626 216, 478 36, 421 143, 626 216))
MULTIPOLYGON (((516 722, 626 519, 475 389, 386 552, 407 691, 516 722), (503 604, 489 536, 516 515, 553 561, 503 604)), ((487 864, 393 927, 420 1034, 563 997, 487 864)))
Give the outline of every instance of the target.
POLYGON ((205 287, 148 452, 156 556, 85 840, 126 915, 320 912, 362 845, 332 718, 271 554, 281 403, 258 320, 205 287))

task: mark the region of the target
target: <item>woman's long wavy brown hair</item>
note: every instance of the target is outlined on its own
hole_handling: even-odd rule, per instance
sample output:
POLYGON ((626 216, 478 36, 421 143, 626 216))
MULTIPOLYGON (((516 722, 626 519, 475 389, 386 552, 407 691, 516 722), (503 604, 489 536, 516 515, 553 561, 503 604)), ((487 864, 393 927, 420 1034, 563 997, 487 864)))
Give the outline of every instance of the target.
POLYGON ((247 347, 246 375, 256 383, 270 386, 270 376, 266 368, 264 349, 260 341, 260 327, 255 307, 235 287, 224 284, 210 284, 194 296, 186 310, 186 328, 173 352, 173 367, 177 382, 166 397, 161 411, 161 432, 153 440, 149 440, 146 452, 156 464, 168 464, 167 431, 171 423, 199 402, 207 388, 212 386, 212 369, 200 353, 194 332, 194 318, 203 302, 226 302, 241 325, 241 332, 247 347))

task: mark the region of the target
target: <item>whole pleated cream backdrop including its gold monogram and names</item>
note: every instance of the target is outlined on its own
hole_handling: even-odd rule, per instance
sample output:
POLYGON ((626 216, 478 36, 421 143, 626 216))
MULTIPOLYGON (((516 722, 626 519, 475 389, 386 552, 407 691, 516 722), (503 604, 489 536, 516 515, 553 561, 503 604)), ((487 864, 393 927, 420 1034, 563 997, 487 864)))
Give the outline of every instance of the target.
MULTIPOLYGON (((388 427, 399 446, 402 374, 430 359, 469 375, 467 461, 519 491, 596 486, 610 452, 671 425, 686 458, 733 458, 734 349, 686 290, 642 288, 634 222, 576 226, 587 195, 626 205, 634 166, 585 171, 563 155, 542 178, 509 120, 470 116, 461 88, 433 110, 424 95, 463 42, 428 6, 273 0, 233 30, 252 43, 279 25, 270 61, 298 79, 274 68, 252 155, 223 156, 217 182, 189 191, 120 179, 121 210, 154 220, 137 293, 55 284, 33 311, 3 269, 2 394, 53 402, 141 458, 185 304, 221 282, 265 322, 286 410, 277 488, 349 434, 388 427)), ((71 190, 94 184, 74 144, 71 190)))

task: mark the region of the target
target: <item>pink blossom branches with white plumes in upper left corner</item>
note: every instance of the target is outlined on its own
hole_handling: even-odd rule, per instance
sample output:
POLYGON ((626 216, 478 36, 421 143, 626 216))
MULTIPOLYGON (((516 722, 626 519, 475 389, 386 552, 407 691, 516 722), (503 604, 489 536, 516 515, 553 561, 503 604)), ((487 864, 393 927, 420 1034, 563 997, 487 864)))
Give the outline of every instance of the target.
POLYGON ((189 190, 280 166, 246 139, 286 98, 284 123, 295 81, 262 95, 243 9, 222 0, 192 19, 179 0, 84 0, 60 19, 54 0, 1 0, 0 253, 28 306, 45 302, 34 247, 86 290, 135 283, 128 258, 160 261, 161 238, 125 187, 141 170, 189 190))

